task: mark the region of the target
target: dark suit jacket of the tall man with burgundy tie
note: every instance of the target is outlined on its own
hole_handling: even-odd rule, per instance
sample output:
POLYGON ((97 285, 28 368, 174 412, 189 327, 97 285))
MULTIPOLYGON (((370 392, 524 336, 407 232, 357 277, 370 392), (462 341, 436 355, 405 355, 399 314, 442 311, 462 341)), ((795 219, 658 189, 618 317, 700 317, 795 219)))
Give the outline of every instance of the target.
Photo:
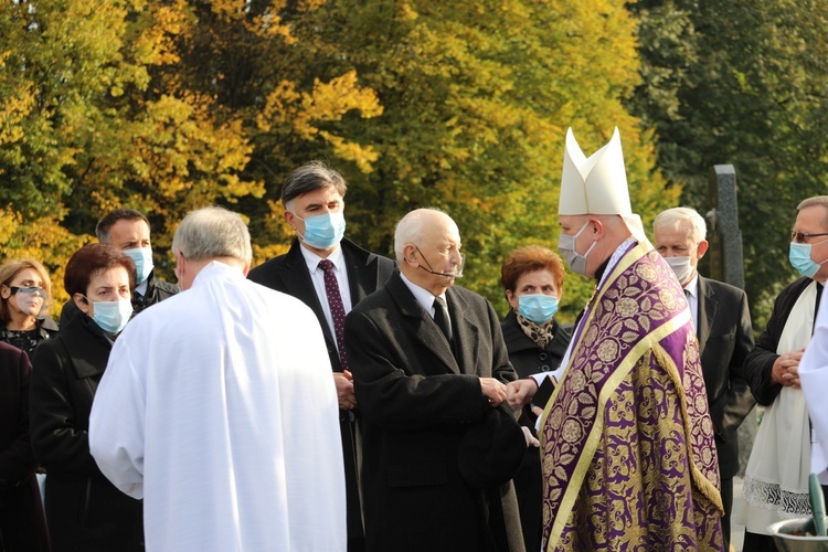
MULTIPOLYGON (((370 253, 349 240, 340 243, 348 266, 348 287, 351 291, 351 305, 358 305, 370 294, 380 289, 391 277, 396 263, 388 257, 370 253)), ((342 365, 337 352, 337 339, 325 319, 322 304, 316 294, 310 279, 308 265, 299 250, 299 240, 294 240, 290 250, 252 269, 247 277, 263 286, 301 300, 316 314, 322 327, 325 343, 328 347, 331 369, 341 372, 342 365)), ((323 299, 327 300, 327 299, 323 299)), ((346 488, 348 497, 348 538, 359 539, 363 535, 360 492, 357 477, 357 437, 354 418, 349 411, 340 411, 340 431, 346 465, 346 488)))

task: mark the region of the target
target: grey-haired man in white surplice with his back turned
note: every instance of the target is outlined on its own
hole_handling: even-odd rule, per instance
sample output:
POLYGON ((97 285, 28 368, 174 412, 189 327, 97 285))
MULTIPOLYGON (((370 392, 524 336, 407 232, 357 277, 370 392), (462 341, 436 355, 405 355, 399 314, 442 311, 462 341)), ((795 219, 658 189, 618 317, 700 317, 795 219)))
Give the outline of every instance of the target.
POLYGON ((319 322, 245 278, 250 233, 221 208, 172 241, 184 289, 118 337, 89 446, 144 498, 147 551, 344 551, 339 412, 319 322))

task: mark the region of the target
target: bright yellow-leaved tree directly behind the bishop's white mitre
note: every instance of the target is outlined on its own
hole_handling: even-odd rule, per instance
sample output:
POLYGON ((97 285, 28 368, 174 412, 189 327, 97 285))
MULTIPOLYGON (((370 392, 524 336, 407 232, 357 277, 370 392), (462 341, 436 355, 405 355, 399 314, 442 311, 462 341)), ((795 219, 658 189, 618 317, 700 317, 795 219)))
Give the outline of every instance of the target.
MULTIPOLYGON (((445 209, 464 237, 463 285, 501 311, 506 253, 556 246, 569 126, 586 151, 620 128, 645 219, 676 201, 655 171, 651 136, 620 102, 638 78, 634 21, 620 2, 329 2, 306 24, 338 41, 316 67, 354 68, 383 107, 347 121, 379 153, 371 172, 349 174, 351 235, 390 252, 402 214, 445 209)), ((564 317, 590 286, 570 277, 564 317)))

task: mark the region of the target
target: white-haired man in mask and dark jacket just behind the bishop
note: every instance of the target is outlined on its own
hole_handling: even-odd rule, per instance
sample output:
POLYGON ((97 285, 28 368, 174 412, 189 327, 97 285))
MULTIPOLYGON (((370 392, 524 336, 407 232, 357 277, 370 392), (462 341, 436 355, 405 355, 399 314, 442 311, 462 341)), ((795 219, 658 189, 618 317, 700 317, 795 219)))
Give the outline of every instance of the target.
POLYGON ((725 550, 730 546, 733 476, 739 473, 736 429, 756 403, 742 364, 753 349, 751 312, 742 289, 701 276, 697 267, 708 251, 707 225, 692 209, 659 213, 652 224, 654 245, 684 288, 699 337, 701 369, 713 421, 722 478, 725 550))

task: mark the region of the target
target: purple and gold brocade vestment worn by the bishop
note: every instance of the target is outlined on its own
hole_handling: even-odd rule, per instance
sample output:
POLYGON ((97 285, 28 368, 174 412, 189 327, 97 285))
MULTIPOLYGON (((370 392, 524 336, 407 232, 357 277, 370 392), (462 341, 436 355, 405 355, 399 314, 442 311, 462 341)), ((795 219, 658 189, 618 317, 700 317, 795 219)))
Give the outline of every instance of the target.
POLYGON ((723 550, 683 291, 647 243, 608 269, 543 414, 544 550, 723 550))

